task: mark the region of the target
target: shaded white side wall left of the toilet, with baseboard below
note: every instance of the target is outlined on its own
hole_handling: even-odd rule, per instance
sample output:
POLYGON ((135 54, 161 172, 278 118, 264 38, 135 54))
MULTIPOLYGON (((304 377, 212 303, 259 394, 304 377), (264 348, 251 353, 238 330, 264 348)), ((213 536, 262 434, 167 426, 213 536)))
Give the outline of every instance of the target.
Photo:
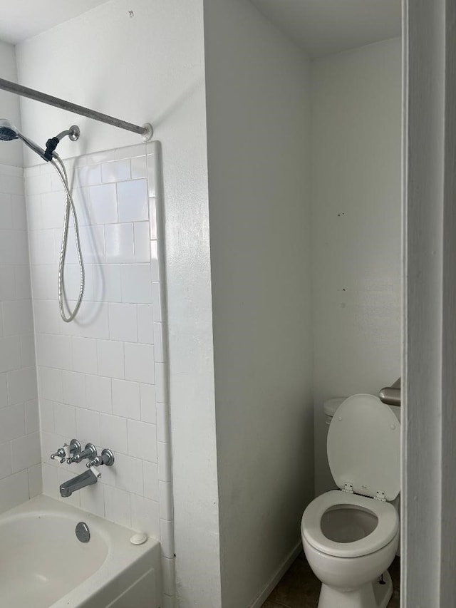
POLYGON ((204 24, 222 603, 246 608, 314 496, 309 61, 248 2, 204 24))

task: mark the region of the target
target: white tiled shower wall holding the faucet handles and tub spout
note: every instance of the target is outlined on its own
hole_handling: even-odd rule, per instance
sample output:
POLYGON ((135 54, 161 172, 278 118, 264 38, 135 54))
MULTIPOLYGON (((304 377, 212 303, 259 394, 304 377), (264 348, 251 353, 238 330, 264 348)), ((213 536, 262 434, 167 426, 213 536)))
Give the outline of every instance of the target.
MULTIPOLYGON (((49 455, 71 438, 111 448, 112 468, 66 500, 160 538, 165 599, 174 594, 170 425, 160 249, 160 148, 120 148, 66 162, 73 178, 86 292, 73 323, 58 311, 63 185, 50 164, 25 171, 38 370, 43 493, 86 464, 49 455), (161 282, 161 283, 160 283, 161 282), (167 596, 167 597, 166 597, 167 596)), ((79 268, 68 237, 66 294, 79 268)))

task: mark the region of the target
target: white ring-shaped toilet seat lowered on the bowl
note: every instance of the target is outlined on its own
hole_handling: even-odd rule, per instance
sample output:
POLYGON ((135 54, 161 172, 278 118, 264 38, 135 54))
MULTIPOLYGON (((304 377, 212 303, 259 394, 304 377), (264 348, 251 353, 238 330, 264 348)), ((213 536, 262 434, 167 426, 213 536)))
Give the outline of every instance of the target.
POLYGON ((331 490, 315 498, 304 511, 301 534, 316 550, 334 557, 360 557, 369 555, 388 545, 399 530, 398 513, 390 503, 349 494, 342 490, 331 490), (371 534, 354 542, 336 542, 328 539, 321 530, 321 517, 331 507, 353 505, 372 512, 378 519, 371 534))

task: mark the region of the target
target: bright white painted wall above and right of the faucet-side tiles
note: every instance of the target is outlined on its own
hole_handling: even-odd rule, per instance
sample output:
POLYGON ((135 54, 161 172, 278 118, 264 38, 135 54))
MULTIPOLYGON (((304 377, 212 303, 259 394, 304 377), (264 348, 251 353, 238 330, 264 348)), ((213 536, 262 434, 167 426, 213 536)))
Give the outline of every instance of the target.
MULTIPOLYGON (((170 324, 177 594, 220 605, 202 1, 114 0, 18 46, 21 83, 125 118, 162 142, 170 324), (133 18, 129 11, 133 11, 133 18)), ((24 133, 44 142, 78 123, 65 158, 138 135, 24 100, 24 133)), ((35 164, 30 155, 27 165, 35 164)))

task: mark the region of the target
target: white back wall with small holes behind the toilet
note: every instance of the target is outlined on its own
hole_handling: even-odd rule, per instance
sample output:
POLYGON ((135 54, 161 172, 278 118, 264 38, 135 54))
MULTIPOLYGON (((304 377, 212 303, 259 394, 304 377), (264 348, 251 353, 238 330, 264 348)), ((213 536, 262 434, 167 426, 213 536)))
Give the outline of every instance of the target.
POLYGON ((314 61, 316 493, 333 485, 323 401, 400 376, 399 38, 314 61))

